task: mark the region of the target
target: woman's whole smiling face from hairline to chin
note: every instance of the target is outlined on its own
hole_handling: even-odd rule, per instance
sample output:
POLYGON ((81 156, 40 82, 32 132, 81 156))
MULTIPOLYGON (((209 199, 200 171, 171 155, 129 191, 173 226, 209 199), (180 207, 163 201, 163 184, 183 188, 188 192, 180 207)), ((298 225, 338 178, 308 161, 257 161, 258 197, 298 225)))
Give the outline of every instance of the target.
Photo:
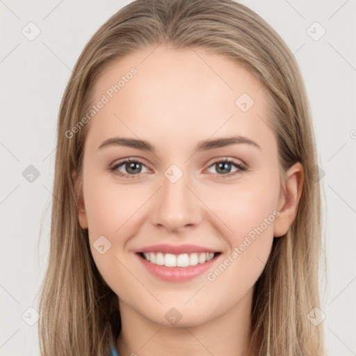
POLYGON ((88 122, 79 221, 120 309, 199 325, 248 305, 282 234, 277 141, 264 90, 241 65, 153 49, 95 85, 104 104, 88 122))

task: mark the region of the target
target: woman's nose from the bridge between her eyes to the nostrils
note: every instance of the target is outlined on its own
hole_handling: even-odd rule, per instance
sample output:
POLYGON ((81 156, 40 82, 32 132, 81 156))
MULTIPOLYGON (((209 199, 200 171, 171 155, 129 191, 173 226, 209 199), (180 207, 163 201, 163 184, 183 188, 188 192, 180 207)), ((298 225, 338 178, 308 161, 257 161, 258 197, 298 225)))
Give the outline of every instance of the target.
POLYGON ((202 212, 199 200, 190 191, 188 173, 171 165, 162 177, 162 188, 154 204, 152 223, 177 230, 200 222, 202 212))

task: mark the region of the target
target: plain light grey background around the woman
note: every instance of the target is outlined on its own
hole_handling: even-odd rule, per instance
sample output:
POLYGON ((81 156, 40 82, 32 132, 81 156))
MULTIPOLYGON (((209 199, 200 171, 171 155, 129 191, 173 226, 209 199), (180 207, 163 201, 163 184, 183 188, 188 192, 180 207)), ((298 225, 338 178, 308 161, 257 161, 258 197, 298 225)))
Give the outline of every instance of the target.
MULTIPOLYGON (((40 354, 60 99, 86 42, 129 2, 0 0, 2 356, 40 354)), ((242 2, 282 36, 305 79, 324 189, 325 337, 329 355, 356 355, 356 1, 242 2)))

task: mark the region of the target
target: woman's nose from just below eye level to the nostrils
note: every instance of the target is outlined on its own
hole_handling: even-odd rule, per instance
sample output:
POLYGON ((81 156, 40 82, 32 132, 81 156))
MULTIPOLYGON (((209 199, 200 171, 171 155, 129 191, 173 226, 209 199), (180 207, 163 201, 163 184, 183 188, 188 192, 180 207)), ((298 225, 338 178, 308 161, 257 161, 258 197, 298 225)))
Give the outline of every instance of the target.
POLYGON ((197 227, 202 221, 204 204, 193 193, 185 175, 175 183, 163 177, 162 185, 154 200, 152 224, 170 232, 197 227))

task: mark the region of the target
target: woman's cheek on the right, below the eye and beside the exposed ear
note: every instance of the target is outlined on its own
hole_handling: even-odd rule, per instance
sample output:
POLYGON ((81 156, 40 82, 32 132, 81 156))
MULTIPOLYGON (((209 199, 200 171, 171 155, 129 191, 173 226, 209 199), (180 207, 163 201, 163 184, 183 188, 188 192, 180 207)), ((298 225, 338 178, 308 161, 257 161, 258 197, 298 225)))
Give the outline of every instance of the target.
POLYGON ((219 229, 226 232, 229 248, 207 279, 214 288, 235 296, 232 300, 251 288, 264 270, 273 243, 273 224, 279 215, 278 195, 278 177, 271 175, 260 184, 241 184, 220 191, 219 200, 207 202, 228 227, 222 229, 220 223, 219 229))

